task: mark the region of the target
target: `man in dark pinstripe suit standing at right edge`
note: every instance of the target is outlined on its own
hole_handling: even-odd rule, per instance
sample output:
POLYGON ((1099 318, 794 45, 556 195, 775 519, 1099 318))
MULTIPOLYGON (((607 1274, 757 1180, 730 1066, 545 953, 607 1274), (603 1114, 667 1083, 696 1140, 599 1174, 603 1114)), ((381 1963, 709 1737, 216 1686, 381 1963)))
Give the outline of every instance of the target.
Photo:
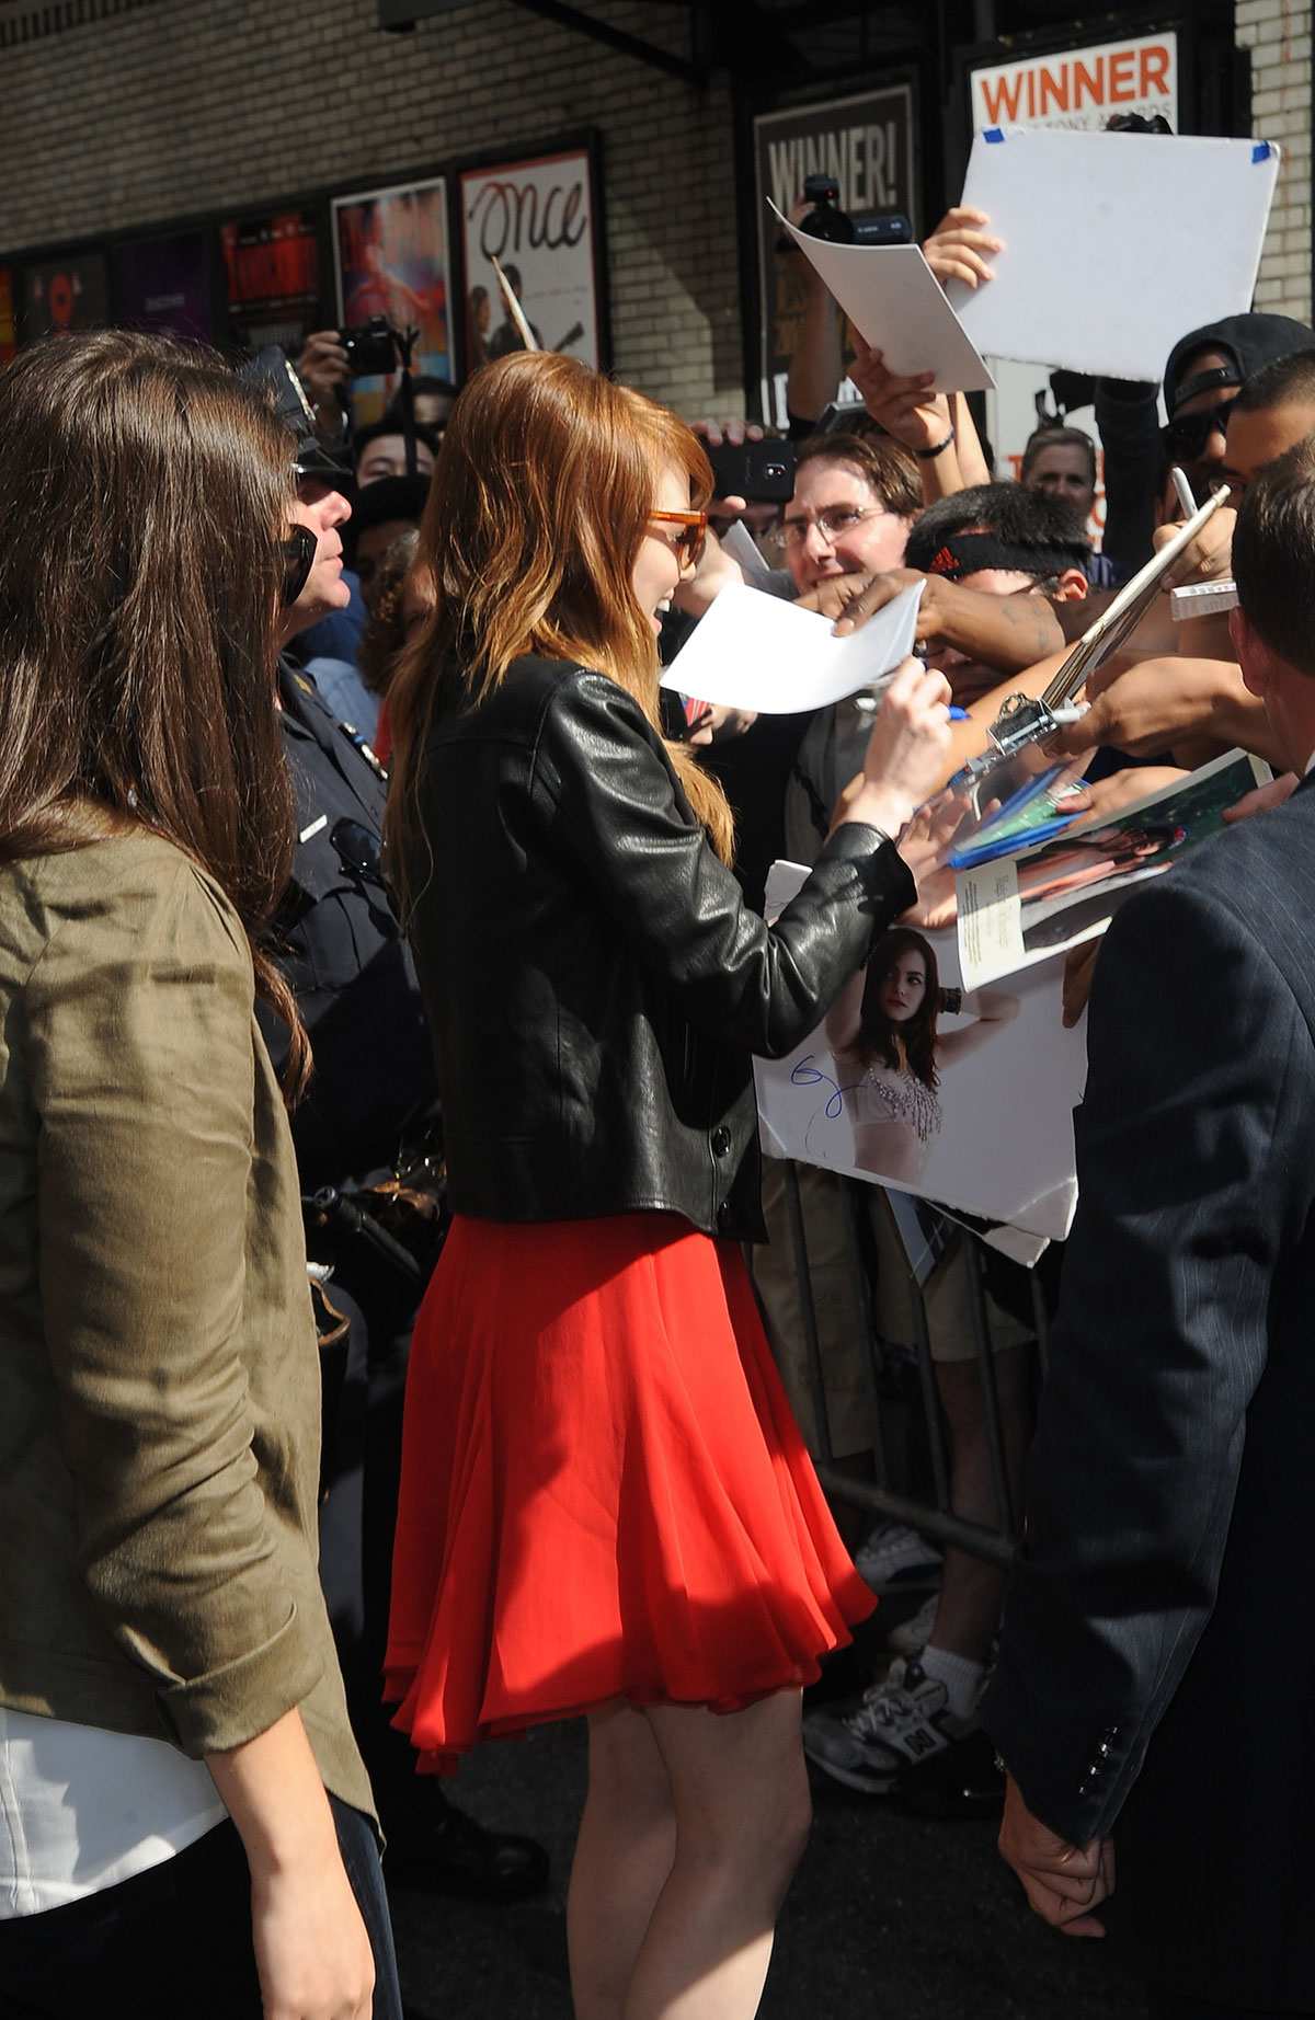
MULTIPOLYGON (((1315 438, 1250 485, 1232 556, 1242 673, 1303 776, 1315 438)), ((1315 2014, 1311 786, 1133 895, 1101 949, 984 1703, 1032 1907, 1107 1925, 1164 2020, 1315 2014)))

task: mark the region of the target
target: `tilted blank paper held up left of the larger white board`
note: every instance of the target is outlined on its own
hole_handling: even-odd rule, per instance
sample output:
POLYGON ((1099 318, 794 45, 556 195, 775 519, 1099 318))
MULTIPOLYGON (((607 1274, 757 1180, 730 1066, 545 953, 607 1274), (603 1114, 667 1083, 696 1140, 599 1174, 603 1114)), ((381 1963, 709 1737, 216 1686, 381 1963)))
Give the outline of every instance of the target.
POLYGON ((776 216, 889 372, 935 372, 931 392, 986 392, 996 384, 921 246, 834 246, 796 230, 780 210, 776 216))

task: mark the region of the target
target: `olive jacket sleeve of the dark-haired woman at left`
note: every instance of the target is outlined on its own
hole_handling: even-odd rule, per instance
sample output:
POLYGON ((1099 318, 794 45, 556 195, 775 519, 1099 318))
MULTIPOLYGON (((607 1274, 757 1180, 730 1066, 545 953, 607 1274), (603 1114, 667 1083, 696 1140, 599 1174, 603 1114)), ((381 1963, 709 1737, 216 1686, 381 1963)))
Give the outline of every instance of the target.
POLYGON ((57 927, 24 1000, 79 1570, 184 1751, 236 1745, 319 1679, 242 1359, 250 957, 190 865, 156 867, 57 927))

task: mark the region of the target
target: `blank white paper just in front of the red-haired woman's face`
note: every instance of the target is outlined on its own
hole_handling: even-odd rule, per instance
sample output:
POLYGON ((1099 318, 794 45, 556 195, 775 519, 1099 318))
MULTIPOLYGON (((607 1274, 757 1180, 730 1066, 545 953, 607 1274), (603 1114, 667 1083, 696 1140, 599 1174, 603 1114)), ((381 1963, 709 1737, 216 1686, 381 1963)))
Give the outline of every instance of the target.
POLYGON ((661 685, 725 709, 798 715, 824 709, 893 673, 913 650, 921 582, 861 624, 832 636, 832 620, 731 582, 701 618, 661 685))

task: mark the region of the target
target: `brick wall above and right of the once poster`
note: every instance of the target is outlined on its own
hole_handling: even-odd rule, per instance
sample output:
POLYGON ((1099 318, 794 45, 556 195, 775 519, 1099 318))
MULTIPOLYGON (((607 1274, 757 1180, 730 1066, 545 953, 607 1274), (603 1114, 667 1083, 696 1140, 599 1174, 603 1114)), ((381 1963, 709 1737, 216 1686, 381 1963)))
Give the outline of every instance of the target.
MULTIPOLYGON (((687 55, 681 10, 596 0, 687 55)), ((614 364, 743 410, 731 109, 509 0, 382 34, 374 0, 0 0, 0 250, 370 188, 602 133, 614 364)))

